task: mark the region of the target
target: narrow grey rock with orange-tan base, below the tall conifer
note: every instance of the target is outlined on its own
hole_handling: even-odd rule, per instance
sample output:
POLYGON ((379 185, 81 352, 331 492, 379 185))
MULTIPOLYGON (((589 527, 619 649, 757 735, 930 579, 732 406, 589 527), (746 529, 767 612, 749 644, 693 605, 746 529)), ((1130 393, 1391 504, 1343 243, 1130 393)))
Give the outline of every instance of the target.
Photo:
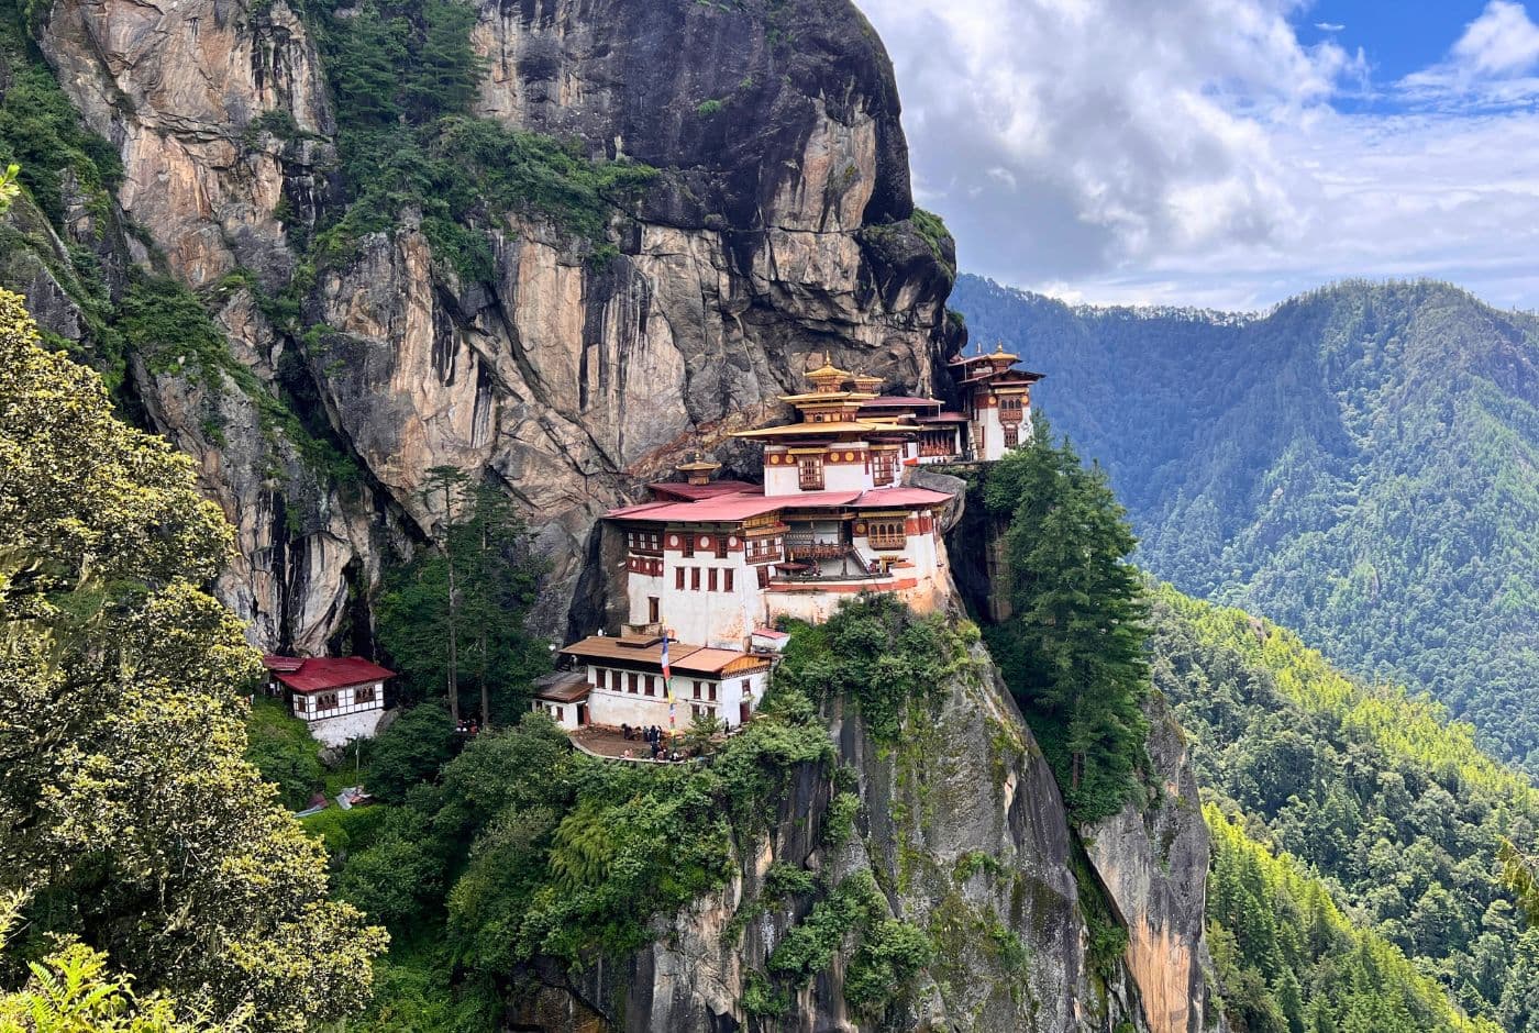
POLYGON ((1090 864, 1128 928, 1128 971, 1150 1033, 1197 1033, 1208 1013, 1203 904, 1208 827, 1180 725, 1147 705, 1150 799, 1083 830, 1090 864))

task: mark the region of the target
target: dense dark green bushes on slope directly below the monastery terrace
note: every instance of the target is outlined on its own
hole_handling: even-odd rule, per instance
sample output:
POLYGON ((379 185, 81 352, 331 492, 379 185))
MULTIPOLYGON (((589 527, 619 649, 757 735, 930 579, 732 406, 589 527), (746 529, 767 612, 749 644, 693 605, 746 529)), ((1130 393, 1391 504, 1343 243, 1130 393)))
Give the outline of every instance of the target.
MULTIPOLYGON (((417 707, 396 727, 417 711, 428 717, 414 724, 446 725, 417 707)), ((460 1013, 482 1018, 416 1028, 492 1028, 492 987, 517 965, 645 944, 656 914, 726 881, 734 845, 762 833, 791 770, 831 754, 811 705, 783 693, 708 767, 597 761, 543 714, 482 733, 400 805, 346 830, 339 891, 411 944, 379 968, 366 1019, 377 1027, 365 1028, 460 1013)))

